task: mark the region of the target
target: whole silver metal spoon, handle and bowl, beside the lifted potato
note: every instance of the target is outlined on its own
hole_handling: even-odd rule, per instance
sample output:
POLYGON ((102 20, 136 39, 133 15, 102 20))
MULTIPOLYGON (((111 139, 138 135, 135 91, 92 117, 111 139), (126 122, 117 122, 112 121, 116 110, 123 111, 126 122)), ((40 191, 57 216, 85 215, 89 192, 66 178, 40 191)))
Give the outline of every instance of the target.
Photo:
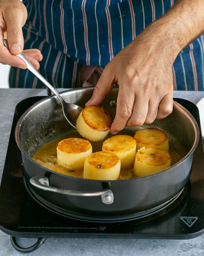
MULTIPOLYGON (((3 42, 6 48, 9 49, 7 39, 3 39, 3 42)), ((28 61, 27 58, 22 53, 16 56, 23 59, 27 64, 27 69, 29 69, 38 79, 40 79, 57 96, 57 98, 60 100, 62 104, 62 110, 65 118, 75 129, 77 129, 77 127, 75 127, 75 123, 79 114, 83 110, 83 108, 74 104, 70 104, 65 100, 63 100, 62 97, 59 95, 59 93, 55 90, 55 88, 50 83, 48 83, 48 81, 33 67, 30 61, 28 61)))

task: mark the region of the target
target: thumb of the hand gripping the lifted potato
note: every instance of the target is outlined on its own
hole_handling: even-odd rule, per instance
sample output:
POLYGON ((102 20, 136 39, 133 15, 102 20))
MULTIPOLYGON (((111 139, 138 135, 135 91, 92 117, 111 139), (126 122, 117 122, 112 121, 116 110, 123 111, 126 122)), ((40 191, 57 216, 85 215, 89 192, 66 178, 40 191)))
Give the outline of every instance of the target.
POLYGON ((110 73, 111 72, 109 68, 104 69, 103 73, 101 74, 101 77, 98 80, 98 83, 94 88, 94 92, 91 99, 88 102, 86 102, 85 106, 99 105, 101 102, 105 100, 106 95, 112 90, 114 85, 114 77, 111 77, 110 73))

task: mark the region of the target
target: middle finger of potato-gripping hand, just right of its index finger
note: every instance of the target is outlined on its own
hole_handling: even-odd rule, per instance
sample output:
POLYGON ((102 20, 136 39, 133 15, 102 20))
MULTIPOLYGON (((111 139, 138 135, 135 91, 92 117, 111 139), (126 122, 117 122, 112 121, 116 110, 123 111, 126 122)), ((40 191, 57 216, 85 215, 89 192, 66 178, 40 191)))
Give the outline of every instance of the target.
POLYGON ((135 96, 132 115, 127 121, 127 126, 133 127, 144 124, 148 113, 148 100, 140 94, 135 96))

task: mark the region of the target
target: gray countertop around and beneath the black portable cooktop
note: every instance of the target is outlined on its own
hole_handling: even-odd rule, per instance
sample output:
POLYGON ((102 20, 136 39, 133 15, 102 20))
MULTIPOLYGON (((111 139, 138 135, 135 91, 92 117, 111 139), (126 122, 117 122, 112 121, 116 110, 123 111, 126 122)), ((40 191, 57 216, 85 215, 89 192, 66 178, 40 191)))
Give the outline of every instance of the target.
MULTIPOLYGON (((7 152, 10 129, 15 106, 21 100, 32 97, 47 95, 45 89, 0 89, 0 180, 7 152)), ((183 98, 197 103, 204 97, 204 92, 175 91, 174 97, 183 98)), ((18 243, 22 247, 31 246, 36 239, 20 238, 18 243)), ((141 256, 198 256, 204 255, 204 234, 188 240, 164 240, 164 239, 110 239, 110 238, 47 238, 37 251, 29 255, 141 255, 141 256)), ((0 230, 0 256, 22 255, 17 252, 10 243, 8 234, 0 230)))

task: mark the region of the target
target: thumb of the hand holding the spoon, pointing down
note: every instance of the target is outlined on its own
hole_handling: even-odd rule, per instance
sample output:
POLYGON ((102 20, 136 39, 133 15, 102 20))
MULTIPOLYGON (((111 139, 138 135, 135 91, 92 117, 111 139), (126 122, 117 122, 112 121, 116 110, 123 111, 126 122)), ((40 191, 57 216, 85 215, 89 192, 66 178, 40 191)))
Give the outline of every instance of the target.
POLYGON ((20 54, 23 50, 24 40, 22 26, 27 18, 27 13, 23 9, 16 9, 15 13, 10 12, 4 19, 7 26, 7 40, 9 51, 14 54, 20 54))

